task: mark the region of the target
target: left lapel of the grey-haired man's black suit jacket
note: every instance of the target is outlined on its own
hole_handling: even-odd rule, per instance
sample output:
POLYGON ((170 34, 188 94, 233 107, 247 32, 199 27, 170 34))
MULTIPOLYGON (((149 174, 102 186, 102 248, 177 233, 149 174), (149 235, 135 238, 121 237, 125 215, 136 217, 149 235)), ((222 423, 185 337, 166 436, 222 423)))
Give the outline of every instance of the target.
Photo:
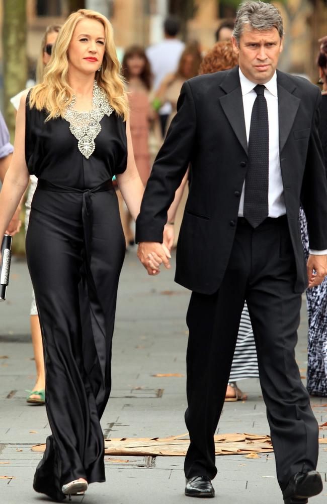
POLYGON ((220 84, 220 87, 225 91, 225 95, 219 98, 220 104, 230 125, 243 147, 248 154, 248 141, 244 121, 243 99, 239 83, 238 66, 230 70, 226 78, 220 84))

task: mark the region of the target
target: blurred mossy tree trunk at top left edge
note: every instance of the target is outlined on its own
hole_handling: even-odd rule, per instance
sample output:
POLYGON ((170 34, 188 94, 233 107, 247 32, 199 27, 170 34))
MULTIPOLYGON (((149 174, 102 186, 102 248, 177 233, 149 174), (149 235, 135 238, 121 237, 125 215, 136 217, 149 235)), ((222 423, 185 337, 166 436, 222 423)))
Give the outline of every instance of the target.
POLYGON ((13 139, 15 112, 9 100, 25 89, 27 80, 26 0, 10 0, 3 6, 4 112, 13 139))

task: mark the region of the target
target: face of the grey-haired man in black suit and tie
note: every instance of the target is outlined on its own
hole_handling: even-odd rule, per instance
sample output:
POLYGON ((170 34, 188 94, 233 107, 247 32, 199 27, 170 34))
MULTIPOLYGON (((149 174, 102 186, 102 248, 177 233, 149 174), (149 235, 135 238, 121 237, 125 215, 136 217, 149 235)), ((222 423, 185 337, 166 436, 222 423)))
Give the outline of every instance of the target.
POLYGON ((283 49, 277 28, 253 30, 244 27, 237 44, 232 38, 242 73, 256 84, 265 84, 275 73, 283 49))

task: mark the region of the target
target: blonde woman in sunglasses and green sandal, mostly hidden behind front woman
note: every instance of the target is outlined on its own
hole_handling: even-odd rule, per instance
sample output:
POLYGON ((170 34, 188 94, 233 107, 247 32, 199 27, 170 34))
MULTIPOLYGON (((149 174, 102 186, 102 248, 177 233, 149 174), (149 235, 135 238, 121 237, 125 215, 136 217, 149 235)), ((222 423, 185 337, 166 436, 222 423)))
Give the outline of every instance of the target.
MULTIPOLYGON (((38 58, 36 67, 36 78, 37 82, 43 80, 43 74, 45 66, 48 64, 51 58, 52 47, 57 39, 60 25, 50 25, 46 28, 41 41, 41 52, 38 58)), ((11 103, 14 105, 15 109, 18 110, 20 99, 24 91, 21 91, 16 96, 11 98, 11 103)), ((25 231, 28 228, 28 222, 31 212, 31 203, 37 186, 37 178, 35 175, 30 176, 30 185, 28 188, 27 199, 26 199, 26 213, 25 213, 25 231)), ((42 334, 40 328, 40 322, 35 302, 34 290, 32 291, 32 305, 30 312, 30 324, 31 324, 31 335, 33 342, 33 351, 36 367, 36 383, 32 390, 27 390, 28 396, 26 398, 28 403, 32 404, 44 404, 45 395, 45 371, 44 371, 44 357, 43 357, 43 345, 42 345, 42 334)))

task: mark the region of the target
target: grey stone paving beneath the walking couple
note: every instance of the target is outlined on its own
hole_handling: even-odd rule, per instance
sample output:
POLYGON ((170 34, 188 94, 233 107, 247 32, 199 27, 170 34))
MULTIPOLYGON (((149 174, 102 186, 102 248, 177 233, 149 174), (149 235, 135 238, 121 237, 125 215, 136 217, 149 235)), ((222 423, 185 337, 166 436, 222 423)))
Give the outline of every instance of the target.
MULTIPOLYGON (((185 375, 189 292, 173 282, 173 270, 150 278, 138 264, 135 251, 127 254, 117 307, 113 347, 113 390, 102 419, 106 437, 166 437, 186 432, 185 376, 158 378, 156 373, 185 375), (159 392, 158 392, 159 391, 159 392)), ((64 279, 63 279, 64 281, 64 279)), ((31 446, 44 443, 50 433, 45 408, 28 405, 25 389, 34 385, 33 349, 29 336, 30 281, 25 262, 14 260, 8 301, 0 304, 0 503, 49 502, 32 489, 41 457, 31 446), (10 479, 3 479, 10 476, 10 479)), ((297 360, 306 367, 306 314, 303 303, 297 360)), ((219 433, 269 433, 265 405, 257 380, 241 388, 246 402, 227 403, 219 433)), ((314 398, 318 422, 327 421, 326 399, 314 398)), ((320 436, 324 432, 321 430, 320 436)), ((182 457, 106 456, 106 483, 90 486, 84 504, 187 504, 183 495, 182 457), (119 461, 117 461, 117 459, 119 461)), ((217 457, 214 480, 220 504, 282 504, 274 455, 259 459, 217 457)), ((324 481, 327 445, 320 445, 318 469, 324 481)), ((68 501, 68 500, 67 500, 68 501)), ((327 502, 327 483, 312 504, 327 502)))

